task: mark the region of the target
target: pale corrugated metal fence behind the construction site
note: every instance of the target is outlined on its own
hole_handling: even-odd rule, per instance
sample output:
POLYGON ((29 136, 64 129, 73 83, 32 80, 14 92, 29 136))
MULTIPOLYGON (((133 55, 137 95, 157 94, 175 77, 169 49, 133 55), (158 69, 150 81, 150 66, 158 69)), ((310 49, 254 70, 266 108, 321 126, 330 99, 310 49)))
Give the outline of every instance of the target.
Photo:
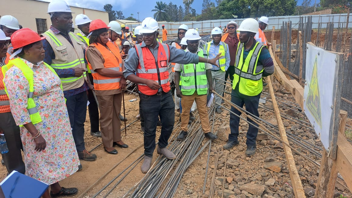
MULTIPOLYGON (((295 15, 295 16, 277 16, 269 17, 269 25, 266 30, 272 30, 275 26, 276 30, 280 30, 282 23, 292 21, 292 29, 298 29, 300 24, 300 17, 307 17, 308 15, 295 15)), ((312 16, 312 28, 317 29, 320 24, 320 28, 326 28, 329 22, 332 22, 334 27, 337 28, 340 25, 346 27, 347 14, 322 14, 322 15, 311 15, 312 16)), ((159 26, 165 25, 168 34, 177 34, 177 28, 181 24, 186 24, 189 28, 198 28, 200 34, 209 33, 214 27, 225 27, 226 24, 234 20, 238 25, 241 25, 244 19, 219 19, 219 20, 206 20, 206 21, 182 21, 182 22, 166 22, 159 21, 159 26)), ((349 18, 348 27, 352 27, 352 17, 349 18)), ((138 23, 127 23, 130 28, 138 26, 138 23)), ((139 23, 140 25, 140 23, 139 23)))

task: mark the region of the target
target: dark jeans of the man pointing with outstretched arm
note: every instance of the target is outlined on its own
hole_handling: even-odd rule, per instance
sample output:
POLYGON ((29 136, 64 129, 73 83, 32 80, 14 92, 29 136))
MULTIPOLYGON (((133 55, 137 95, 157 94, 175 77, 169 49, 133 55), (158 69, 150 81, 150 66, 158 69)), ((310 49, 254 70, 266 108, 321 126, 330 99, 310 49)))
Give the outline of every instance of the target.
POLYGON ((168 146, 168 140, 175 123, 175 103, 171 91, 153 96, 140 94, 140 97, 145 124, 144 154, 152 157, 155 149, 155 133, 159 120, 158 117, 160 117, 163 125, 159 137, 159 147, 164 148, 168 146))

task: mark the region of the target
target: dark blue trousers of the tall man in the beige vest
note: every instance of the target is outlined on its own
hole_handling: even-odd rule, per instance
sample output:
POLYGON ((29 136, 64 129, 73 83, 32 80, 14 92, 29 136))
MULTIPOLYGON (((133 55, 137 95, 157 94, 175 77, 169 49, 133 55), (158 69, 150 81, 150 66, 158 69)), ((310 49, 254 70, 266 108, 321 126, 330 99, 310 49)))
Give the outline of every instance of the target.
POLYGON ((69 96, 66 98, 66 106, 70 124, 72 128, 72 136, 76 144, 77 151, 83 151, 84 147, 84 121, 87 114, 87 91, 69 96))

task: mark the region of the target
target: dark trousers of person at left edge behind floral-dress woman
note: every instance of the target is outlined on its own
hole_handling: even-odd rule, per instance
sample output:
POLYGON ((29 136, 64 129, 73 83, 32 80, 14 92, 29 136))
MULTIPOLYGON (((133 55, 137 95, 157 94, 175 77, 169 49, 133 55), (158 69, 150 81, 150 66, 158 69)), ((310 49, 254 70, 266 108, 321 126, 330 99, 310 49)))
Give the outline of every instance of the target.
POLYGON ((4 131, 8 153, 1 154, 4 159, 7 172, 12 171, 25 173, 25 165, 22 160, 22 141, 20 128, 16 125, 11 112, 0 113, 0 128, 4 131))

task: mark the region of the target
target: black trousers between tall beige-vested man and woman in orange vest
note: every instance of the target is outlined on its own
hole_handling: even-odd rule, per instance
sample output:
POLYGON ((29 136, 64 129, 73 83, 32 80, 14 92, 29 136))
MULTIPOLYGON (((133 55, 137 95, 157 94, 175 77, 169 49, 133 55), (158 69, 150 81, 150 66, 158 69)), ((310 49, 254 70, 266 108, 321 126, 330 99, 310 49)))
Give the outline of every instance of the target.
MULTIPOLYGON (((88 73, 90 82, 93 83, 93 76, 92 74, 88 73)), ((98 104, 96 104, 93 91, 88 89, 88 113, 89 113, 89 120, 90 120, 90 131, 97 132, 99 131, 99 109, 98 104)))

